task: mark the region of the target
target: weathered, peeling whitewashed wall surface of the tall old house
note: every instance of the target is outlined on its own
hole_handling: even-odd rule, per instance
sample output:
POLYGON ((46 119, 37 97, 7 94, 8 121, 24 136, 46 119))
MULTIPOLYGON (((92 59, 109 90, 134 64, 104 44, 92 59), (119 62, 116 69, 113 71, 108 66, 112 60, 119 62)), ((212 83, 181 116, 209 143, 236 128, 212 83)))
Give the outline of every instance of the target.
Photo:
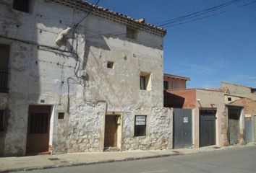
MULTIPOLYGON (((131 40, 125 25, 90 15, 77 28, 77 39, 69 35, 59 47, 54 43, 58 33, 85 13, 49 1, 33 0, 31 4, 27 14, 12 9, 12 1, 0 2, 0 43, 11 46, 9 94, 0 94, 1 107, 9 109, 7 129, 0 138, 5 156, 25 154, 29 105, 54 107, 54 153, 102 151, 106 111, 128 112, 124 118, 132 118, 134 110, 163 107, 163 37, 139 30, 138 39, 131 40), (78 57, 52 48, 77 50, 78 57), (115 68, 106 68, 107 61, 114 61, 115 68), (77 78, 82 70, 88 74, 85 80, 77 78), (151 74, 151 91, 140 90, 140 71, 151 74), (64 120, 57 119, 58 111, 65 112, 64 120)), ((155 115, 152 111, 147 114, 155 115)), ((166 109, 160 112, 168 115, 166 109)), ((122 131, 123 136, 133 138, 130 123, 134 122, 124 123, 122 131)), ((163 122, 148 128, 162 125, 159 123, 163 122)), ((170 146, 169 135, 154 136, 161 136, 170 146)), ((163 148, 161 141, 155 141, 154 148, 163 148)), ((127 143, 122 147, 147 148, 127 143)))

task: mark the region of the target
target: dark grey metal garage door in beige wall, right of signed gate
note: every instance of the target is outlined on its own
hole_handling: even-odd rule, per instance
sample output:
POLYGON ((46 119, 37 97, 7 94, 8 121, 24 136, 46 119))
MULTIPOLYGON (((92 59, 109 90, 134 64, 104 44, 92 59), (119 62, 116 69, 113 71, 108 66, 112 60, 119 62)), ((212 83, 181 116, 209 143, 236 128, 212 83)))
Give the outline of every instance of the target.
POLYGON ((216 110, 200 110, 200 147, 216 144, 216 110))

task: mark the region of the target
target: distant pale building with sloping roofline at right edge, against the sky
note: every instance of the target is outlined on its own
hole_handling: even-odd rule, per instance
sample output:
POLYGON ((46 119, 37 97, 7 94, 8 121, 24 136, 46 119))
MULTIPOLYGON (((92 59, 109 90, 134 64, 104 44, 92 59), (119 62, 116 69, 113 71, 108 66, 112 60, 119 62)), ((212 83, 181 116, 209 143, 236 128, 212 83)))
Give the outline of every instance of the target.
POLYGON ((256 88, 231 84, 224 81, 221 82, 221 88, 226 89, 228 94, 238 97, 247 97, 256 101, 256 88))

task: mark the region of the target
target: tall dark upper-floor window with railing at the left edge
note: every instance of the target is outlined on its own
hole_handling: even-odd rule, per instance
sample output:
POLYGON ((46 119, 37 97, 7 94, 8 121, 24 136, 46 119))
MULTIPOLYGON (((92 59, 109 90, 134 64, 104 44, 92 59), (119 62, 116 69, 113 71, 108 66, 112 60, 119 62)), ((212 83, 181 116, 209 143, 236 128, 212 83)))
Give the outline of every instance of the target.
POLYGON ((9 45, 0 44, 0 92, 8 92, 9 45))

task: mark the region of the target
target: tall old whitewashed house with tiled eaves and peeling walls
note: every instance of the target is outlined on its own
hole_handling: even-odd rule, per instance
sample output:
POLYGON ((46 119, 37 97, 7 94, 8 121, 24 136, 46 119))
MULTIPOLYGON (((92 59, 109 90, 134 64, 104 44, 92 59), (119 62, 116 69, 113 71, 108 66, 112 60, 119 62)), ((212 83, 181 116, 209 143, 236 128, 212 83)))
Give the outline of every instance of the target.
POLYGON ((79 0, 2 0, 0 18, 0 156, 172 147, 166 30, 79 0))

